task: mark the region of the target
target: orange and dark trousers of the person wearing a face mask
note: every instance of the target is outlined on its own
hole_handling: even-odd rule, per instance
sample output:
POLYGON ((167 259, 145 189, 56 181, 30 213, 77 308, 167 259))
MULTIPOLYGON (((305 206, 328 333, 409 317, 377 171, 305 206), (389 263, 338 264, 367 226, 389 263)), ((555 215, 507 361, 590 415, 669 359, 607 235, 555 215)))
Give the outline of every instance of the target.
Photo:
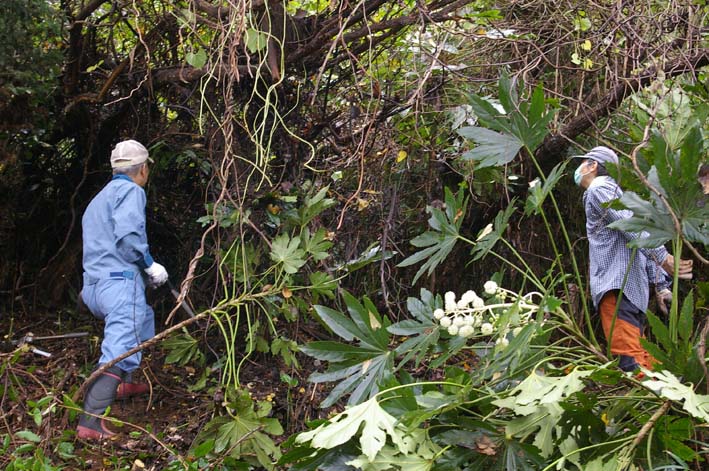
POLYGON ((657 360, 640 345, 640 339, 644 337, 645 314, 627 299, 621 299, 616 315, 617 305, 618 292, 609 291, 603 295, 598 306, 603 333, 611 346, 611 353, 620 356, 620 368, 625 371, 632 371, 637 366, 652 370, 657 360))

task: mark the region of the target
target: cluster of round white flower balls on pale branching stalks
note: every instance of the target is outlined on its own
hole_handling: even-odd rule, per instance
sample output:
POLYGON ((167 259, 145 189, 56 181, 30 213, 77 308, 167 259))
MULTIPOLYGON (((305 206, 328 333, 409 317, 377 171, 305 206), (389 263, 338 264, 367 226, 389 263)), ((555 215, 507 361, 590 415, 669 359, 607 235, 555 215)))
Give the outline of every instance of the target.
POLYGON ((541 294, 533 292, 520 296, 500 288, 492 280, 485 282, 483 291, 488 298, 487 304, 475 291, 466 291, 458 301, 455 293, 448 291, 444 295, 444 309, 433 311, 433 317, 450 335, 468 338, 476 334, 490 336, 497 333, 495 343, 504 348, 509 344, 508 334, 511 332, 512 336, 518 335, 539 310, 539 306, 532 303, 532 297, 541 297, 541 294), (517 308, 518 315, 514 320, 505 322, 505 325, 498 325, 500 317, 513 306, 517 308))

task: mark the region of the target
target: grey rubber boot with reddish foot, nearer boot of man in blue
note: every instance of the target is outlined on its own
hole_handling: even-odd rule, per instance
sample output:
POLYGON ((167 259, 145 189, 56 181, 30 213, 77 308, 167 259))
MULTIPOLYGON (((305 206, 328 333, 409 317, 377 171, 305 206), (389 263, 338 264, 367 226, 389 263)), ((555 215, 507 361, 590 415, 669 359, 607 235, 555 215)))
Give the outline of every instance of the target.
POLYGON ((105 425, 102 417, 93 417, 88 414, 102 415, 113 404, 116 398, 116 388, 123 380, 123 371, 117 366, 107 369, 91 383, 84 395, 84 412, 79 417, 76 434, 79 438, 88 440, 101 440, 115 435, 105 425))

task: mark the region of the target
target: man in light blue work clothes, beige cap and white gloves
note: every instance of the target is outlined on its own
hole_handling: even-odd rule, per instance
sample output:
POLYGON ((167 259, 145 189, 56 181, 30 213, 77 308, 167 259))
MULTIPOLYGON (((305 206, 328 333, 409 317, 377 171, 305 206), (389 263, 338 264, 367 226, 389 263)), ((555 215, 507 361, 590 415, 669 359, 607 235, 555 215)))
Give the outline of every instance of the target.
MULTIPOLYGON (((113 178, 91 200, 81 220, 84 286, 81 298, 105 321, 99 366, 155 335, 153 310, 145 300, 146 283, 167 281, 165 267, 153 261, 145 232, 148 150, 139 142, 120 142, 111 152, 113 178), (145 276, 143 276, 145 275, 145 276)), ((146 384, 132 382, 140 365, 134 353, 104 371, 89 385, 77 436, 100 440, 114 435, 100 417, 118 397, 144 394, 146 384)))

